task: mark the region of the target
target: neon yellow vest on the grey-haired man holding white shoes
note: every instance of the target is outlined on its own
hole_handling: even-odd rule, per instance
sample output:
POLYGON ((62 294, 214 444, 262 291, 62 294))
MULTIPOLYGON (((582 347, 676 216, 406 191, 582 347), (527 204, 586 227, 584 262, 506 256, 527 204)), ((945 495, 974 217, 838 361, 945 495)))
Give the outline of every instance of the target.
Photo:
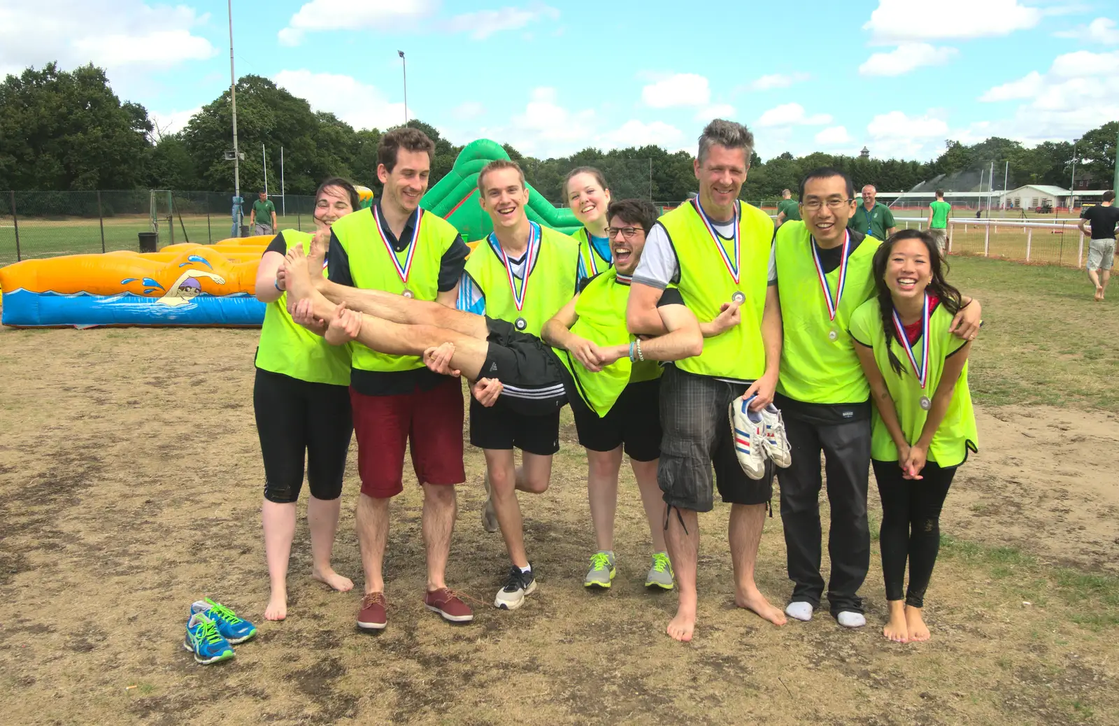
MULTIPOLYGON (((765 373, 762 345, 762 313, 769 281, 770 243, 773 220, 761 209, 739 202, 741 257, 739 283, 731 277, 715 241, 707 233, 692 202, 680 205, 659 220, 673 241, 680 265, 680 295, 700 321, 714 320, 720 305, 735 292, 745 295, 740 310, 742 322, 733 330, 706 338, 703 353, 676 362, 681 370, 700 376, 756 379, 765 373)), ((730 255, 734 251, 728 251, 730 255)))

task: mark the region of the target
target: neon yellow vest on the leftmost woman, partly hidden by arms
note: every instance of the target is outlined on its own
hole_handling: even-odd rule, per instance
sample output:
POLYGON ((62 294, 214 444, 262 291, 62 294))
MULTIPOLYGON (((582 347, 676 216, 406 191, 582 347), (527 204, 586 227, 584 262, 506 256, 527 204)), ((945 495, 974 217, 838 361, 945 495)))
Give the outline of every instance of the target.
MULTIPOLYGON (((282 234, 288 249, 297 244, 303 245, 303 252, 310 247, 309 233, 284 229, 282 234)), ((264 309, 256 367, 310 383, 348 386, 349 347, 331 346, 292 320, 288 293, 283 293, 264 309)))

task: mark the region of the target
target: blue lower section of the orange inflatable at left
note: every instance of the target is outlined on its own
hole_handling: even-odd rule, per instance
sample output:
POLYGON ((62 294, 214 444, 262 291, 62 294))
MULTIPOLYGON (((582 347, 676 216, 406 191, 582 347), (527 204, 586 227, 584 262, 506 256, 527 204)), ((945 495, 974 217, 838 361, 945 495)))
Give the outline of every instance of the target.
POLYGON ((264 308, 263 302, 247 293, 200 294, 180 300, 178 304, 168 304, 130 292, 92 295, 85 292, 59 294, 13 290, 3 293, 0 322, 26 328, 153 324, 258 328, 264 323, 264 308))

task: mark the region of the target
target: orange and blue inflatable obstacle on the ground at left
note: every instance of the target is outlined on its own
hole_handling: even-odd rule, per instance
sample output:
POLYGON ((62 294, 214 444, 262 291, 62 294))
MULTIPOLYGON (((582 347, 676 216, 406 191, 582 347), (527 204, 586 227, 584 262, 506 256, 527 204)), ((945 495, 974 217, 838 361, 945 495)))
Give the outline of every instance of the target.
POLYGON ((227 326, 264 321, 256 267, 271 236, 25 260, 0 270, 13 327, 227 326))

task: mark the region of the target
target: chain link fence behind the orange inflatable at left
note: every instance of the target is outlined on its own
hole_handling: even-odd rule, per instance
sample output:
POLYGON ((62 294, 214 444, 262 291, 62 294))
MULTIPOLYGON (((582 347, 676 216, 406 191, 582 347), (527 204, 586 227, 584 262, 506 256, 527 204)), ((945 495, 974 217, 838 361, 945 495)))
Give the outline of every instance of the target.
MULTIPOLYGON (((243 204, 248 224, 255 195, 243 204)), ((272 197, 281 229, 311 229, 314 197, 272 197)), ((131 189, 0 191, 0 266, 19 260, 139 249, 139 233, 158 246, 211 244, 236 236, 233 195, 217 191, 131 189)))

